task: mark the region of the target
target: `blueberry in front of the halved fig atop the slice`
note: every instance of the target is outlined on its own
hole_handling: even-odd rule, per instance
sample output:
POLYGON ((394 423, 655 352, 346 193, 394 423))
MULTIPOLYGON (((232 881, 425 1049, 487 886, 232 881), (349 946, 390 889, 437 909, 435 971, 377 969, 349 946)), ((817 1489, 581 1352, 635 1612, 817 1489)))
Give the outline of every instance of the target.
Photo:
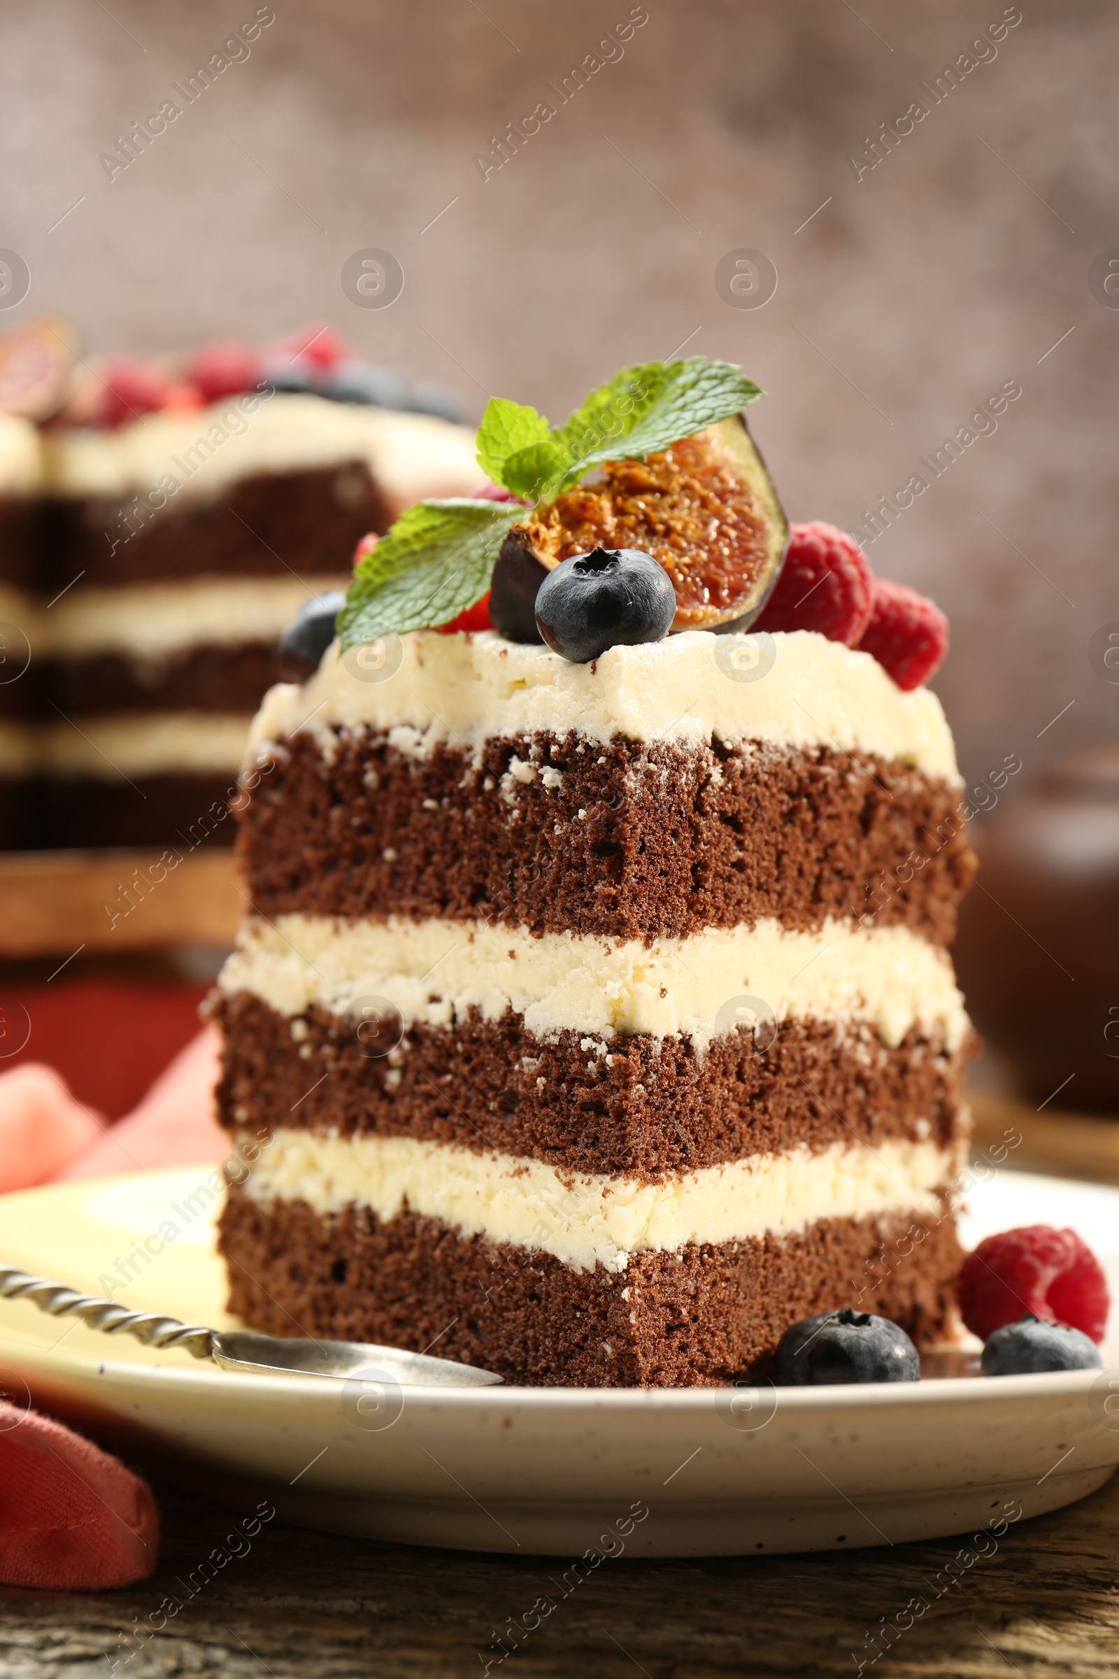
POLYGON ((554 653, 586 665, 607 646, 663 641, 676 616, 668 573, 636 547, 594 547, 550 571, 537 593, 537 628, 554 653))

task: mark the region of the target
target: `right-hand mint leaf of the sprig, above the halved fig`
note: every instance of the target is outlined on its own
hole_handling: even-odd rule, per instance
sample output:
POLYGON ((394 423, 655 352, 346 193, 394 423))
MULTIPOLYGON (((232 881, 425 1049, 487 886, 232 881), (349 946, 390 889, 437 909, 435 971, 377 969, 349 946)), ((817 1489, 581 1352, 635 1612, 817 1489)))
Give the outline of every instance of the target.
POLYGON ((644 460, 763 395, 742 368, 706 356, 622 368, 552 433, 570 458, 557 489, 607 460, 644 460))

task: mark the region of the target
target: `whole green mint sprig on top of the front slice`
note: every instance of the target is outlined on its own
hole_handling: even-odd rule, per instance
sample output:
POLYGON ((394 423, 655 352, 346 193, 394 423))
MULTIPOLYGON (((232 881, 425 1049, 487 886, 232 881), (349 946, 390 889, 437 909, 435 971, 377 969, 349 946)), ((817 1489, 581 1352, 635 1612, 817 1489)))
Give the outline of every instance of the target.
MULTIPOLYGON (((530 502, 550 500, 609 460, 644 460, 728 420, 762 391, 730 361, 688 356, 622 368, 560 426, 535 408, 490 398, 478 426, 478 465, 530 502)), ((517 502, 429 500, 409 507, 354 573, 337 616, 342 646, 396 630, 450 623, 490 588, 517 502)))

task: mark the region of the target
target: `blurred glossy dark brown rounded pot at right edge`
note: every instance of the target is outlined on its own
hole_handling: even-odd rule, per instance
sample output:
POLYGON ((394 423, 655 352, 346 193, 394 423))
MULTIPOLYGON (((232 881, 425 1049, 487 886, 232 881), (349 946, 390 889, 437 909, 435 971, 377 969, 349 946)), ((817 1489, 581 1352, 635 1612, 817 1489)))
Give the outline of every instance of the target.
MULTIPOLYGON (((976 804, 1005 786, 1005 776, 988 781, 976 804)), ((985 890, 960 918, 956 964, 976 1026, 1045 1111, 1114 1115, 1119 742, 1052 764, 1007 809, 978 816, 973 843, 985 890)))

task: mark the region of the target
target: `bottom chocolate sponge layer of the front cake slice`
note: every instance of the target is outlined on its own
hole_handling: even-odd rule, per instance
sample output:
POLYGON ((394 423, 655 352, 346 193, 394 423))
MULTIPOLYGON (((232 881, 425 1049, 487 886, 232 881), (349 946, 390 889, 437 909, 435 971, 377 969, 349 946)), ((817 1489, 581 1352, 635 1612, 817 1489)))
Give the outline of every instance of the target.
POLYGON ((388 1222, 349 1206, 258 1204, 221 1214, 230 1310, 272 1335, 435 1352, 550 1387, 703 1387, 767 1375, 782 1331, 839 1306, 877 1311, 918 1343, 951 1330, 951 1216, 822 1219, 787 1237, 641 1253, 622 1273, 540 1251, 388 1222))

